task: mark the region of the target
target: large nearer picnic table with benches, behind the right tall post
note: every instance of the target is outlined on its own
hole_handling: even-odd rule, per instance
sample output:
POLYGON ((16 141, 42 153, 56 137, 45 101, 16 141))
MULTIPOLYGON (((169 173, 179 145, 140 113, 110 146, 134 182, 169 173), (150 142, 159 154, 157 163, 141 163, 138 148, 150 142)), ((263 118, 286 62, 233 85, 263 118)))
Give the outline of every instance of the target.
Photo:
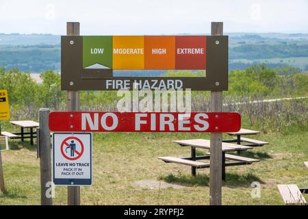
MULTIPOLYGON (((158 157, 166 163, 184 164, 192 167, 192 175, 196 175, 197 168, 209 168, 210 164, 205 162, 199 162, 201 159, 209 159, 210 153, 206 155, 196 156, 196 148, 210 149, 210 141, 205 139, 192 139, 192 140, 175 140, 173 141, 180 146, 190 146, 191 156, 190 157, 158 157)), ((244 146, 238 144, 222 143, 222 179, 226 179, 226 166, 238 166, 245 164, 252 164, 253 162, 259 162, 259 159, 252 159, 248 157, 242 157, 238 155, 230 155, 226 152, 229 151, 246 151, 253 149, 251 146, 244 146), (226 160, 232 162, 226 162, 226 160)))

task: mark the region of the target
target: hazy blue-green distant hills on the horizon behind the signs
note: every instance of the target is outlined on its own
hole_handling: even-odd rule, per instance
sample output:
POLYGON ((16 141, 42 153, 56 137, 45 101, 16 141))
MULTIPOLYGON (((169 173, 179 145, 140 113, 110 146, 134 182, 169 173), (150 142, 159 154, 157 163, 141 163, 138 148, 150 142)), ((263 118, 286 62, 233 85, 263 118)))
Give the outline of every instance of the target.
MULTIPOLYGON (((294 66, 308 70, 308 34, 226 33, 225 35, 229 36, 229 70, 243 69, 259 63, 265 63, 270 67, 294 66)), ((0 66, 19 68, 32 73, 41 73, 47 69, 60 71, 60 36, 0 34, 0 66)), ((147 73, 160 74, 155 71, 147 73)))

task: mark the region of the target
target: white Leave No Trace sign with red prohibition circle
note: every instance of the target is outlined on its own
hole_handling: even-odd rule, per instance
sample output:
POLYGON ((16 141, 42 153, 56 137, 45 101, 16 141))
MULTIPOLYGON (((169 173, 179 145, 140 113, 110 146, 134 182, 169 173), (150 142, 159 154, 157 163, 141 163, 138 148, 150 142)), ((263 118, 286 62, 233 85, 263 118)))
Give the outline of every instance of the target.
POLYGON ((53 183, 92 185, 92 133, 53 133, 53 183))

